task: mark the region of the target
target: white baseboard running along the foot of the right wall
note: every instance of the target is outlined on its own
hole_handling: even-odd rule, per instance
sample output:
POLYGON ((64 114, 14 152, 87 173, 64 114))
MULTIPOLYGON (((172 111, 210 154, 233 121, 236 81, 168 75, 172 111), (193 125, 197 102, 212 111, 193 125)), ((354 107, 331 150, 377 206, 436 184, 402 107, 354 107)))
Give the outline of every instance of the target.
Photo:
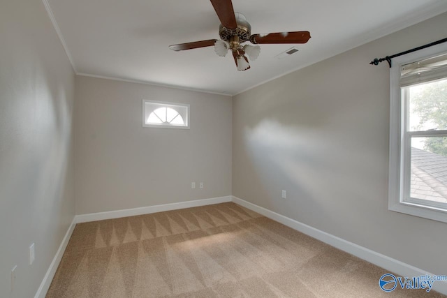
MULTIPOLYGON (((327 232, 323 232, 316 228, 312 228, 310 225, 300 223, 299 221, 295 221, 292 218, 288 218, 281 214, 277 214, 274 211, 270 211, 269 209, 265 209, 263 207, 260 207, 251 202, 247 202, 235 196, 232 196, 232 201, 235 202, 236 204, 240 204, 242 207, 248 208, 250 210, 257 212, 258 214, 262 214, 263 216, 271 218, 274 221, 282 223, 283 225, 287 225, 289 228, 293 228, 293 230, 298 230, 299 232, 307 234, 310 237, 323 241, 326 244, 334 246, 335 248, 339 248, 342 251, 346 251, 346 253, 351 253, 351 255, 355 255, 356 257, 361 258, 362 260, 366 260, 367 262, 382 267, 383 269, 389 270, 390 272, 394 272, 395 274, 399 274, 400 276, 413 277, 427 274, 430 276, 434 275, 431 274, 430 272, 413 267, 399 260, 390 258, 386 255, 382 255, 381 253, 376 253, 375 251, 354 244, 352 242, 346 241, 342 238, 336 237, 327 232)), ((379 279, 377 279, 377 283, 379 283, 379 279)), ((447 282, 435 281, 433 283, 432 290, 447 295, 447 282)))

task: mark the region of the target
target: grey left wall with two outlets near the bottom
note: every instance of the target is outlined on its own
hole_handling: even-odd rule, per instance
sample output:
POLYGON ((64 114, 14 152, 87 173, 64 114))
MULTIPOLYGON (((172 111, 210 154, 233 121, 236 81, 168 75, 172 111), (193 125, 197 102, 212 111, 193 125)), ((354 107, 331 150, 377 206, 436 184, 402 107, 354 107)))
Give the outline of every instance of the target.
POLYGON ((34 297, 75 214, 75 75, 42 1, 2 1, 0 40, 0 297, 34 297))

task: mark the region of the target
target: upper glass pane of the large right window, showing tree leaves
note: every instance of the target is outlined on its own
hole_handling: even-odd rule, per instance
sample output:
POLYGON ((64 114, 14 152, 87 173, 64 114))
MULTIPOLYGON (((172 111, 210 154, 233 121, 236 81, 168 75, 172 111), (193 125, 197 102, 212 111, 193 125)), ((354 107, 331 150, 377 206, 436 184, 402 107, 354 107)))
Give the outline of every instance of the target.
POLYGON ((409 92, 408 131, 447 129, 447 79, 406 87, 409 92))

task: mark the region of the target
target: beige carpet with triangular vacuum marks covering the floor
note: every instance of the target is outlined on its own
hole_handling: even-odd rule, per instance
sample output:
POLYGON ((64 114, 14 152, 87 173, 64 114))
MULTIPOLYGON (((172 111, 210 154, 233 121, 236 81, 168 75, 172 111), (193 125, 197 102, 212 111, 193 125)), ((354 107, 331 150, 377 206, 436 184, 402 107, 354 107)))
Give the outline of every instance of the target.
POLYGON ((47 297, 444 297, 385 273, 230 202, 76 225, 47 297))

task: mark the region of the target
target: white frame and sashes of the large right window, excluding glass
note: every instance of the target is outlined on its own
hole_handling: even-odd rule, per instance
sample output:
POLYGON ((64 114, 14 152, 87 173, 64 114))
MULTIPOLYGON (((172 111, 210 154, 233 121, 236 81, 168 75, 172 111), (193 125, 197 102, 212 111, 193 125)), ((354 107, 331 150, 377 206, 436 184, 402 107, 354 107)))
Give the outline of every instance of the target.
MULTIPOLYGON (((390 148, 389 148, 389 181, 388 181, 388 209, 404 214, 429 218, 434 221, 447 223, 447 206, 444 203, 411 198, 409 195, 411 184, 411 137, 417 136, 447 136, 447 131, 405 131, 408 124, 407 112, 402 107, 404 100, 408 101, 406 91, 401 90, 400 70, 403 64, 409 64, 438 54, 447 52, 447 43, 427 47, 423 50, 411 52, 393 59, 390 68, 390 148), (408 199, 407 199, 408 195, 408 199), (444 204, 444 205, 443 205, 444 204)), ((447 78, 447 69, 443 77, 447 78)), ((422 80, 421 82, 430 82, 422 80)), ((408 84, 412 86, 417 83, 408 84)))

